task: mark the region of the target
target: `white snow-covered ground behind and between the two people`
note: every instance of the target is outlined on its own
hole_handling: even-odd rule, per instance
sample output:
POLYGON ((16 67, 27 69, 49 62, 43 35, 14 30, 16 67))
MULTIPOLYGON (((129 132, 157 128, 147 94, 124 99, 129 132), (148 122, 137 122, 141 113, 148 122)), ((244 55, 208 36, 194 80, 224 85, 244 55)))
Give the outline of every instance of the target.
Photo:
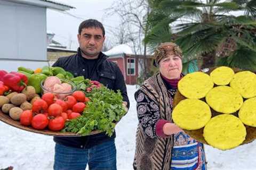
MULTIPOLYGON (((129 113, 116 126, 117 169, 130 170, 135 150, 137 129, 135 86, 127 86, 131 102, 129 113)), ((208 169, 256 169, 256 142, 221 151, 205 146, 208 169)), ((52 137, 23 131, 0 122, 0 169, 52 169, 54 142, 52 137)))

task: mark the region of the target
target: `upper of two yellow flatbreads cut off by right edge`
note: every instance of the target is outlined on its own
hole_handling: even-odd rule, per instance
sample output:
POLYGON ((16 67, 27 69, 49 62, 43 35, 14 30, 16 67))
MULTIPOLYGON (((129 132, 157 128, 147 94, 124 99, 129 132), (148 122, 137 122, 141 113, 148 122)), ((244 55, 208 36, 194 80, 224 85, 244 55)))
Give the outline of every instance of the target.
POLYGON ((256 96, 256 74, 250 71, 238 72, 230 82, 230 87, 235 89, 243 98, 256 96))

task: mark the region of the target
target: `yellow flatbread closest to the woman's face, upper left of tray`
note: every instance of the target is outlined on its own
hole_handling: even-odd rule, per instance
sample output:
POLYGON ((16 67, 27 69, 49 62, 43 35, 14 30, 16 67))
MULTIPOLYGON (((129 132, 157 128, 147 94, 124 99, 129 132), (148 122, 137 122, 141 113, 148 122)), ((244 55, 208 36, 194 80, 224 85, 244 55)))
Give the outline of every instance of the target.
POLYGON ((203 72, 189 73, 178 83, 180 93, 189 99, 201 99, 213 88, 210 75, 203 72))

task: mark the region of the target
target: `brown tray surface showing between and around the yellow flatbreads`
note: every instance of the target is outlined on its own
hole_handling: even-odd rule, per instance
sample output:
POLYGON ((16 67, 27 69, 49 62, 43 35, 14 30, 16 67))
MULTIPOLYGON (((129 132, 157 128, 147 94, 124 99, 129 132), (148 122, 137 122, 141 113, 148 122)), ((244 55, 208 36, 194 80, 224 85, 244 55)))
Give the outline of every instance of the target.
MULTIPOLYGON (((217 67, 212 67, 209 69, 209 71, 205 72, 206 74, 210 74, 215 68, 217 67)), ((239 69, 233 69, 235 73, 241 71, 239 69)), ((186 99, 186 97, 182 96, 180 94, 179 91, 177 91, 177 93, 175 94, 174 96, 174 101, 173 101, 173 106, 177 106, 178 103, 181 101, 181 100, 184 100, 186 99)), ((205 98, 202 98, 201 100, 205 101, 205 98)), ((205 101, 206 102, 206 101, 205 101)), ((214 116, 217 116, 217 115, 220 115, 220 114, 223 114, 223 113, 219 113, 219 112, 216 112, 214 111, 212 108, 211 108, 211 112, 212 112, 212 117, 214 116)), ((235 115, 236 117, 238 117, 238 111, 233 113, 233 115, 235 115)), ((245 128, 246 128, 246 138, 244 140, 244 142, 242 143, 243 144, 246 144, 246 143, 250 143, 252 142, 255 138, 256 138, 256 128, 253 128, 251 126, 247 126, 245 125, 245 128)), ((203 137, 203 130, 204 128, 201 128, 201 129, 198 129, 198 130, 193 130, 193 131, 189 131, 189 130, 183 130, 185 131, 188 135, 190 135, 190 137, 196 139, 197 141, 199 142, 202 142, 202 143, 205 143, 205 144, 208 144, 205 140, 204 140, 204 137, 203 137)))

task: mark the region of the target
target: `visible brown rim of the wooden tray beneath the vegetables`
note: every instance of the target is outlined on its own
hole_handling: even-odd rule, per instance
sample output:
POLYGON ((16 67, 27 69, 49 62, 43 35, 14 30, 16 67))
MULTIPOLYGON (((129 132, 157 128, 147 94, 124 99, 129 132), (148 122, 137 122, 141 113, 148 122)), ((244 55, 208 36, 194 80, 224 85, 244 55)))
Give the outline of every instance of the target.
MULTIPOLYGON (((9 115, 4 114, 1 110, 0 110, 0 121, 7 123, 11 126, 14 126, 15 128, 19 128, 25 131, 29 131, 29 132, 34 132, 34 133, 39 133, 39 134, 45 134, 45 135, 51 135, 51 136, 58 136, 58 137, 79 137, 81 135, 78 135, 76 133, 70 133, 70 132, 54 132, 54 131, 50 131, 50 130, 36 130, 31 128, 30 126, 23 126, 20 124, 19 121, 14 121, 9 115)), ((94 130, 90 133, 90 135, 93 134, 98 134, 101 133, 101 131, 98 130, 94 130)))

